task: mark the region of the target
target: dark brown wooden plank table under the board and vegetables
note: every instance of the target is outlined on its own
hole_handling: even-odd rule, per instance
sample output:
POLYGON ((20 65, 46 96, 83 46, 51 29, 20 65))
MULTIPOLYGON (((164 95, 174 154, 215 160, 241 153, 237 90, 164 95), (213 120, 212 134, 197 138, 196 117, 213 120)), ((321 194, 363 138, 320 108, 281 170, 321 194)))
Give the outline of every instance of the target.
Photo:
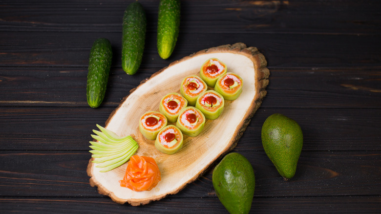
POLYGON ((1 213, 227 213, 212 186, 214 163, 184 190, 145 206, 117 204, 89 185, 90 134, 141 81, 198 50, 246 43, 266 57, 268 94, 233 151, 255 170, 252 213, 381 211, 381 1, 183 0, 176 48, 156 50, 157 0, 142 65, 121 66, 122 17, 133 0, 1 0, 1 213), (106 98, 86 102, 95 39, 112 43, 106 98), (296 120, 304 145, 284 181, 260 139, 264 120, 296 120))

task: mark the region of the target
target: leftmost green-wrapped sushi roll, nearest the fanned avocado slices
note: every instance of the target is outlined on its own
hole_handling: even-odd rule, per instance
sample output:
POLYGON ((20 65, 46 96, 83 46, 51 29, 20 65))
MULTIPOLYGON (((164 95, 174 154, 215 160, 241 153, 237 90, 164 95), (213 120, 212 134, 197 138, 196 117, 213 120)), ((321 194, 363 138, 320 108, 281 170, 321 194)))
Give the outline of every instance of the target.
POLYGON ((139 130, 148 140, 155 140, 159 131, 168 123, 164 114, 157 111, 144 113, 139 120, 139 130))

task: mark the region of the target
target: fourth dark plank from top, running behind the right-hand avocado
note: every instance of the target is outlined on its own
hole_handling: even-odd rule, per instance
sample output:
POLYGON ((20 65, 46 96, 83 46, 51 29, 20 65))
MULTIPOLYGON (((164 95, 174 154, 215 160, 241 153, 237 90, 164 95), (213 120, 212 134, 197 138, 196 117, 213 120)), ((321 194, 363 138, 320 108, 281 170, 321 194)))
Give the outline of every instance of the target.
MULTIPOLYGON (((0 147, 2 150, 88 150, 92 129, 97 129, 95 124, 104 126, 113 110, 0 108, 0 147)), ((254 114, 238 147, 263 150, 261 128, 273 113, 282 113, 299 123, 304 133, 304 150, 381 150, 380 128, 376 126, 381 121, 379 109, 267 108, 266 101, 254 114)))

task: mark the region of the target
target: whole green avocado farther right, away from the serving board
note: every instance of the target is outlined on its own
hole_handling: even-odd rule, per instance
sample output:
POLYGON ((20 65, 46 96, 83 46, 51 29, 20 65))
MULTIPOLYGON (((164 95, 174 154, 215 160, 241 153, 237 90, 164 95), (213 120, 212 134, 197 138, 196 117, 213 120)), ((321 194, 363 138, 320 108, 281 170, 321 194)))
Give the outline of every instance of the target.
POLYGON ((276 170, 285 179, 295 175, 303 146, 303 133, 295 120, 282 114, 270 115, 262 126, 262 145, 276 170))

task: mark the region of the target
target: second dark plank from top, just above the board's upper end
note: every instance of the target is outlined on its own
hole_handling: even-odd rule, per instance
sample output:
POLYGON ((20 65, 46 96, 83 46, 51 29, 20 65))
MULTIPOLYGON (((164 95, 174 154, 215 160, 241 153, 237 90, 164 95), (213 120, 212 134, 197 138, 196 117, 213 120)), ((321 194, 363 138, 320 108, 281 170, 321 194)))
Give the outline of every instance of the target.
MULTIPOLYGON (((114 53, 112 66, 120 68, 119 32, 45 32, 43 35, 41 32, 0 32, 0 66, 87 67, 92 43, 100 37, 110 40, 114 53)), ((150 42, 155 41, 154 38, 155 33, 147 34, 141 70, 169 64, 199 50, 237 42, 258 47, 269 68, 381 66, 381 46, 375 35, 180 33, 168 60, 159 57, 156 43, 150 42)))

